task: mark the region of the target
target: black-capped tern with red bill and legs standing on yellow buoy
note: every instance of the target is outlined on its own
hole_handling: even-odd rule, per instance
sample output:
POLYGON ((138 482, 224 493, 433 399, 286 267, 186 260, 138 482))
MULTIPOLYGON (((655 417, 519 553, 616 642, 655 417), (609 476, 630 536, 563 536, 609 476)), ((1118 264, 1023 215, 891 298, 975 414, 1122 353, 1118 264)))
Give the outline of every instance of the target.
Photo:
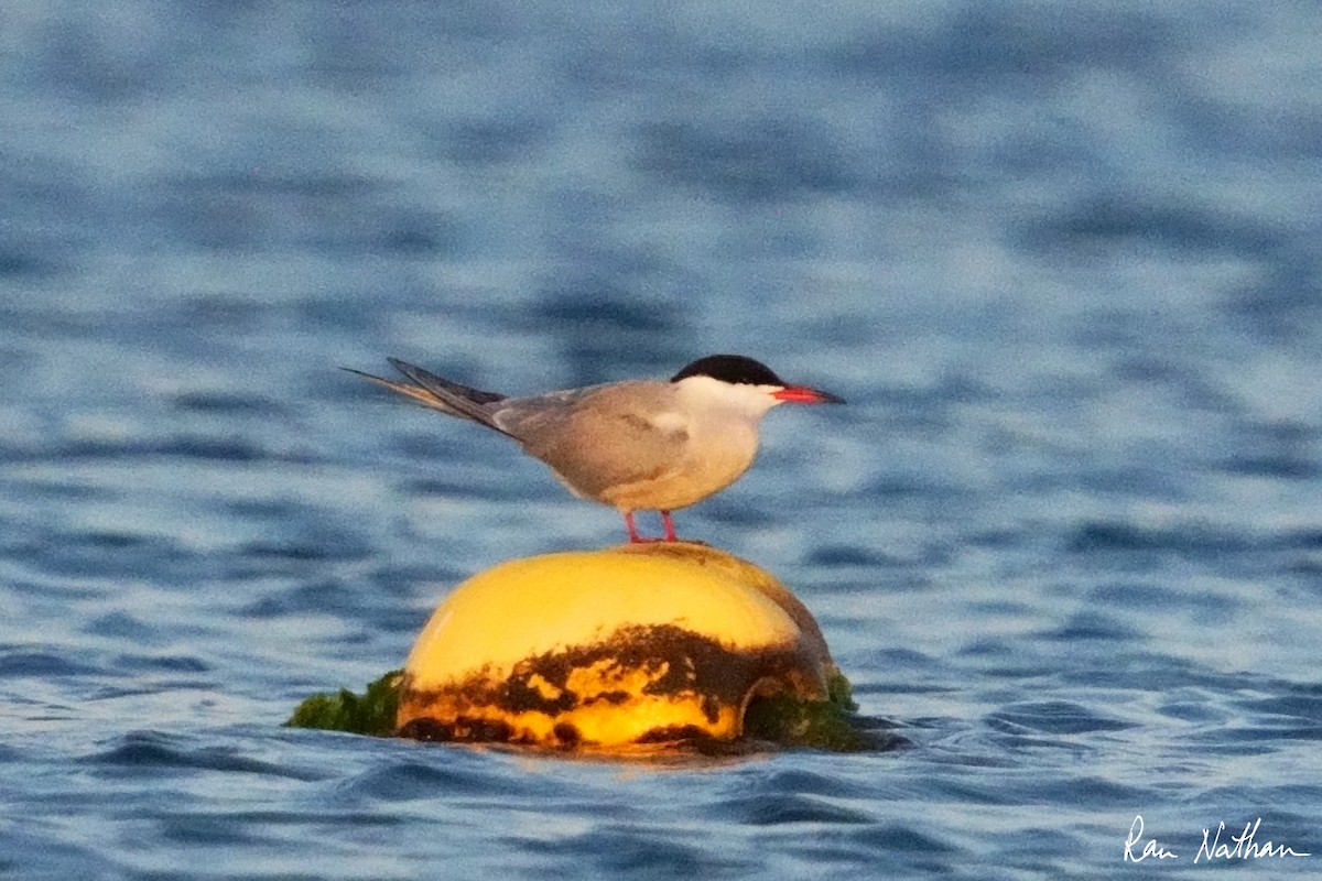
POLYGON ((579 498, 617 509, 629 542, 635 511, 658 511, 677 542, 672 511, 719 493, 758 454, 761 417, 777 404, 842 404, 793 386, 743 355, 707 355, 669 380, 635 379, 509 398, 443 379, 389 358, 408 382, 345 367, 426 407, 512 437, 579 498))

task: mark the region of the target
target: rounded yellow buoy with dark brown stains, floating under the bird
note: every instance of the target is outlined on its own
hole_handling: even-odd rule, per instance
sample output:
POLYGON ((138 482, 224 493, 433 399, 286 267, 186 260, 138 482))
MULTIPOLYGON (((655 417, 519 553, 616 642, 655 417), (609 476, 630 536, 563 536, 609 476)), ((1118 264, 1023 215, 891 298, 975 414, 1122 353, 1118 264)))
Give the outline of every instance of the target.
POLYGON ((841 683, 812 614, 764 569, 703 544, 628 544, 512 560, 456 588, 405 664, 395 733, 608 752, 731 741, 754 699, 818 704, 841 683))

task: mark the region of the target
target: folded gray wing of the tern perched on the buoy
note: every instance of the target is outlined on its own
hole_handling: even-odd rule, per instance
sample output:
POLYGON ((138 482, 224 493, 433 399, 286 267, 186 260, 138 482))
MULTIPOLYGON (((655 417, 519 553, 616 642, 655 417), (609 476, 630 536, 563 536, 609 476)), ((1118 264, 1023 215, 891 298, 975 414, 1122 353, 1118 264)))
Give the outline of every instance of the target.
POLYGON ((656 419, 670 383, 635 382, 508 399, 496 425, 542 460, 580 495, 662 477, 683 457, 682 420, 656 419))

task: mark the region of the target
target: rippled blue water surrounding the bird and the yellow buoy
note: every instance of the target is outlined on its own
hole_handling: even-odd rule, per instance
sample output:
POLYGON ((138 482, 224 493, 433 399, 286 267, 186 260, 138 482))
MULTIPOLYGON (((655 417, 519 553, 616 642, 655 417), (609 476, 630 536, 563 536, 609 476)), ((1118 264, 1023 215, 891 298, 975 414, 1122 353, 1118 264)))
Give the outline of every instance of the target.
MULTIPOLYGON (((1322 870, 1322 8, 0 9, 0 876, 1322 870), (612 544, 505 392, 759 357, 677 516, 887 753, 280 728, 455 584, 612 544), (1144 840, 1178 859, 1122 861, 1144 840), (1318 856, 1194 864, 1202 829, 1318 856)), ((1224 839, 1223 839, 1224 840, 1224 839)), ((1142 851, 1142 844, 1134 853, 1142 851)))

